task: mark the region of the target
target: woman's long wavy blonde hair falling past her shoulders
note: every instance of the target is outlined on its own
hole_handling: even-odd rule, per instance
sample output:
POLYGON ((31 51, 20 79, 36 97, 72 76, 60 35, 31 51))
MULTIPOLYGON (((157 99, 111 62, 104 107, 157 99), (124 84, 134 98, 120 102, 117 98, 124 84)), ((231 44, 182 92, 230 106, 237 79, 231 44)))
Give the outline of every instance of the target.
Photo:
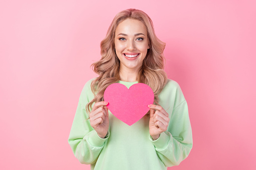
POLYGON ((147 29, 149 49, 143 60, 142 67, 137 73, 137 80, 138 83, 144 83, 151 87, 154 92, 154 104, 158 104, 158 95, 167 82, 167 75, 163 70, 165 43, 156 37, 151 19, 140 10, 128 9, 121 11, 115 16, 106 37, 101 42, 101 60, 91 65, 99 77, 95 78, 91 84, 95 97, 86 106, 88 113, 92 110, 93 103, 104 101, 103 95, 106 88, 120 80, 120 61, 115 53, 115 32, 118 24, 126 19, 139 20, 147 29))

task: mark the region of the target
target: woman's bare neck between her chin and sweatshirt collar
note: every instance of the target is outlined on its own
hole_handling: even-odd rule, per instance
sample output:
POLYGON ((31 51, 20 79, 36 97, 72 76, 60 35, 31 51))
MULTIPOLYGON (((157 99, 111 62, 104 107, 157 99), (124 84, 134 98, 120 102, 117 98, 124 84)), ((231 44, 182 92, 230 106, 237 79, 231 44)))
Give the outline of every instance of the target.
POLYGON ((137 73, 139 70, 122 68, 120 66, 119 76, 121 81, 135 82, 137 80, 137 73))

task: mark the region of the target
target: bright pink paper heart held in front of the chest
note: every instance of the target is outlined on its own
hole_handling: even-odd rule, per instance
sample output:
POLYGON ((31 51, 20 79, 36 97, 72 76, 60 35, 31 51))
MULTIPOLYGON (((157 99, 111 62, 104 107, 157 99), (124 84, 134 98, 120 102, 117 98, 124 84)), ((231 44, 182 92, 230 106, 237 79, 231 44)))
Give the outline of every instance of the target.
POLYGON ((140 120, 153 104, 153 90, 144 83, 133 84, 129 89, 123 84, 109 85, 104 92, 104 101, 109 102, 108 109, 119 120, 131 126, 140 120))

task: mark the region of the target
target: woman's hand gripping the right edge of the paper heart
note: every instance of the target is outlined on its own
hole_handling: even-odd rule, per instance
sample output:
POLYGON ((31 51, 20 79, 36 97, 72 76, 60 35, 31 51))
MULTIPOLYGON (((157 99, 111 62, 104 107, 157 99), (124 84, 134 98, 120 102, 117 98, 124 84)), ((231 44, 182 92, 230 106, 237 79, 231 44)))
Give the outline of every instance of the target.
POLYGON ((148 107, 150 108, 149 134, 153 140, 156 140, 162 132, 167 130, 169 114, 161 106, 150 104, 148 107))

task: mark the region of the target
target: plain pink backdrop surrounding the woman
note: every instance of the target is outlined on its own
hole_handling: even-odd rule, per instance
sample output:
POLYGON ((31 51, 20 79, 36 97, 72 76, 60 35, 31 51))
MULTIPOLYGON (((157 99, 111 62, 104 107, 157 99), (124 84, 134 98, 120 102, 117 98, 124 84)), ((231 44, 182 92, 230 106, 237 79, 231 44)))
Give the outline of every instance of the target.
POLYGON ((67 139, 114 16, 146 12, 188 101, 194 145, 168 169, 254 169, 255 1, 1 1, 1 169, 90 169, 67 139), (253 168, 254 167, 254 168, 253 168))

